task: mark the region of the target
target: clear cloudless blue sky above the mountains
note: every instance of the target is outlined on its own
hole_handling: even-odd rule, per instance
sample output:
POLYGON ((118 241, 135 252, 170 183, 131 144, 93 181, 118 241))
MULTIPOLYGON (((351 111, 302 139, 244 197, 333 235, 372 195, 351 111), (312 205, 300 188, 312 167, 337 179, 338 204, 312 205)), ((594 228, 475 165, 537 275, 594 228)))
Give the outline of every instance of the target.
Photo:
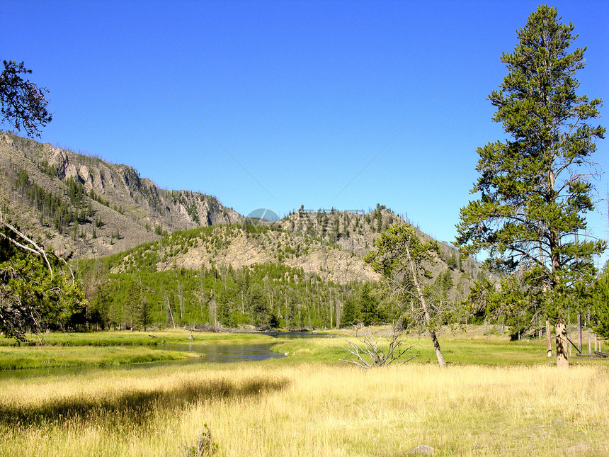
MULTIPOLYGON (((537 4, 4 0, 0 49, 50 91, 44 142, 244 215, 381 203, 453 241, 477 147, 505 139, 486 100, 501 52, 537 4)), ((588 47, 580 93, 605 100, 608 126, 609 2, 553 4, 588 47)), ((606 198, 607 176, 596 186, 606 198)))

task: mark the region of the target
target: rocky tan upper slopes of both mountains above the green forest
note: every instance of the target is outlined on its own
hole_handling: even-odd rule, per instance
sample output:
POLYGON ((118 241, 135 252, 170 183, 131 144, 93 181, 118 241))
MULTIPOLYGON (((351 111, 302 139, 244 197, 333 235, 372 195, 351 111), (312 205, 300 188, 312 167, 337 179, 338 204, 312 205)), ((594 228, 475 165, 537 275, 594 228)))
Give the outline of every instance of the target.
MULTIPOLYGON (((275 263, 336 283, 377 281, 363 256, 380 232, 409 222, 380 204, 365 214, 310 212, 301 206, 281 220, 256 221, 213 196, 161 189, 128 165, 11 132, 0 132, 0 171, 4 212, 8 210, 25 232, 76 259, 125 253, 117 272, 137 263, 129 251, 150 244, 154 271, 275 263)), ((443 274, 447 281, 450 276, 453 284, 467 289, 479 273, 477 263, 462 263, 448 244, 440 243, 440 250, 434 276, 443 274)))

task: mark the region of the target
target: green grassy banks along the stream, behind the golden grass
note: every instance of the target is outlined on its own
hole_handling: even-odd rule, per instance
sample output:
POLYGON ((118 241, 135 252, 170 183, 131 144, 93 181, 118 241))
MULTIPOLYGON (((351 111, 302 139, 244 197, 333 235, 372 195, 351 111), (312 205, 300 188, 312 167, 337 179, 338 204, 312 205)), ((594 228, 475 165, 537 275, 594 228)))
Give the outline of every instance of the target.
MULTIPOLYGON (((380 340, 388 327, 372 329, 380 340)), ((324 362, 336 363, 348 358, 341 346, 344 338, 355 342, 350 332, 310 333, 300 338, 289 332, 192 332, 184 329, 166 329, 157 332, 90 332, 49 333, 37 337, 30 335, 28 344, 17 346, 13 339, 0 337, 0 371, 22 368, 85 367, 118 364, 171 361, 203 356, 205 345, 260 344, 277 354, 285 355, 275 363, 324 362), (198 346, 195 351, 184 352, 171 344, 198 346), (174 350, 175 349, 175 350, 174 350)), ((510 341, 507 335, 487 332, 482 327, 470 327, 467 332, 443 329, 438 332, 440 345, 448 365, 552 365, 548 359, 545 339, 510 341)), ((426 334, 409 334, 403 339, 409 348, 404 358, 416 356, 409 363, 436 363, 431 340, 426 334)), ((189 349, 187 349, 189 350, 189 349)), ((246 359, 246 358, 244 358, 246 359)), ((574 365, 609 363, 593 359, 570 357, 574 365)))

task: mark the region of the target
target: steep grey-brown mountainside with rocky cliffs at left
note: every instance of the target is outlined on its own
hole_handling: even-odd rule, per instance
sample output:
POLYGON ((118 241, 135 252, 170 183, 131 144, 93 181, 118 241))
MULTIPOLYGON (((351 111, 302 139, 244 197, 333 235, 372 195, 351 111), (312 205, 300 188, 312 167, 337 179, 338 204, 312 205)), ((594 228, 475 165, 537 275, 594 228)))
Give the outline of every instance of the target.
POLYGON ((242 219, 215 197, 167 191, 127 165, 8 132, 0 132, 0 203, 25 232, 76 258, 242 219))

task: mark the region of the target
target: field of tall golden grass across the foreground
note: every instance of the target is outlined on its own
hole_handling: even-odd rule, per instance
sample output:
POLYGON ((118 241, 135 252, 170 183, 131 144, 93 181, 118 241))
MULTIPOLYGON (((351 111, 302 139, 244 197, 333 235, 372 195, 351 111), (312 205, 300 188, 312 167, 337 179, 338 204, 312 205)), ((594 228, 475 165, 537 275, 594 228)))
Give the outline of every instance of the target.
POLYGON ((207 423, 222 456, 598 456, 608 400, 603 366, 108 369, 0 379, 0 455, 173 456, 207 423))

